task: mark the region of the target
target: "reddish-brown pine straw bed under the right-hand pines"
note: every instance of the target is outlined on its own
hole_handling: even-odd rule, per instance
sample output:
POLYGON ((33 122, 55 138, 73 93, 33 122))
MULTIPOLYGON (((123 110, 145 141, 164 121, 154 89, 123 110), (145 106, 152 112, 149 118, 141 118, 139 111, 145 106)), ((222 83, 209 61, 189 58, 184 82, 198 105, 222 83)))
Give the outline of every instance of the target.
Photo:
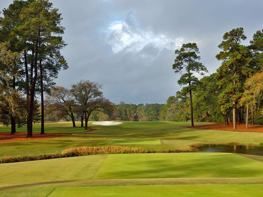
POLYGON ((213 130, 219 130, 219 131, 237 131, 237 132, 263 132, 263 125, 249 125, 248 129, 246 129, 246 123, 240 122, 240 125, 236 123, 236 128, 233 129, 233 123, 229 123, 229 125, 224 125, 223 122, 211 124, 211 125, 200 125, 200 126, 186 126, 188 128, 195 128, 195 129, 213 129, 213 130))

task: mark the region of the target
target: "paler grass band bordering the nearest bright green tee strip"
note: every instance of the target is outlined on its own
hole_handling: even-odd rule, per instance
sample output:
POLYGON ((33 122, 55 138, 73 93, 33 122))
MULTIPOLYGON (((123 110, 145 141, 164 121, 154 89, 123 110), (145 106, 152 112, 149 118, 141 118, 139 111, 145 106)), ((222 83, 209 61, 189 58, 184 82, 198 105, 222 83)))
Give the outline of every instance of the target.
MULTIPOLYGON (((0 185, 0 196, 5 197, 47 197, 59 187, 98 187, 98 186, 135 186, 135 185, 182 185, 182 184, 225 184, 242 186, 247 184, 263 184, 263 178, 161 178, 161 179, 108 179, 108 180, 72 180, 58 182, 42 182, 38 184, 0 185)), ((107 192, 105 193, 107 194, 107 192)), ((67 195, 67 194, 66 194, 67 195)), ((125 195, 124 195, 125 196, 125 195)), ((227 196, 227 195, 225 195, 227 196)))

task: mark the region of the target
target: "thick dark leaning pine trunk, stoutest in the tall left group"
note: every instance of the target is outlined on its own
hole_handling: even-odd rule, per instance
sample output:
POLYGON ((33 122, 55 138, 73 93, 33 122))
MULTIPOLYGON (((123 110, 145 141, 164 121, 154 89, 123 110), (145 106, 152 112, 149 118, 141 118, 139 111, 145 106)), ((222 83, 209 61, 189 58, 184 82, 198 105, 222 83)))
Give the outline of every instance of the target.
POLYGON ((28 125, 27 125, 27 137, 32 136, 33 133, 33 111, 34 111, 34 96, 37 82, 37 55, 38 55, 38 38, 40 34, 40 26, 38 25, 37 38, 35 43, 35 59, 34 59, 34 78, 32 81, 32 86, 30 89, 30 106, 29 106, 29 114, 28 114, 28 125))

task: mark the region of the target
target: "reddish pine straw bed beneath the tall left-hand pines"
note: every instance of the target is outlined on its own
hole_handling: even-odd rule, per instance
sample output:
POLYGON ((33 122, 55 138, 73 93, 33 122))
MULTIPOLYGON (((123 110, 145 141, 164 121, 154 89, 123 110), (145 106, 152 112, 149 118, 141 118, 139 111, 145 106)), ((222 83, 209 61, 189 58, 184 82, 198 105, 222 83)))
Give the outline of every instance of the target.
MULTIPOLYGON (((96 130, 91 127, 88 127, 88 129, 89 131, 83 131, 79 133, 90 132, 90 131, 96 130)), ((45 133, 45 134, 33 133, 33 136, 27 137, 27 133, 16 133, 16 134, 11 135, 10 133, 0 132, 0 143, 1 142, 18 142, 18 141, 38 140, 38 139, 51 139, 51 138, 56 138, 56 137, 70 136, 72 134, 77 134, 77 133, 45 133)))

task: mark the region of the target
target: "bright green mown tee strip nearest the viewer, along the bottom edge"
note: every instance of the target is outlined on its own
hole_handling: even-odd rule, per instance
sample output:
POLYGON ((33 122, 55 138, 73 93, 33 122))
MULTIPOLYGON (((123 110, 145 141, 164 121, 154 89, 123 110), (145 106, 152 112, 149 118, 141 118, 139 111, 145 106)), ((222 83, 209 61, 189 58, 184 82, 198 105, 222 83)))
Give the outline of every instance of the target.
POLYGON ((263 185, 148 185, 56 188, 48 197, 261 197, 263 185))

